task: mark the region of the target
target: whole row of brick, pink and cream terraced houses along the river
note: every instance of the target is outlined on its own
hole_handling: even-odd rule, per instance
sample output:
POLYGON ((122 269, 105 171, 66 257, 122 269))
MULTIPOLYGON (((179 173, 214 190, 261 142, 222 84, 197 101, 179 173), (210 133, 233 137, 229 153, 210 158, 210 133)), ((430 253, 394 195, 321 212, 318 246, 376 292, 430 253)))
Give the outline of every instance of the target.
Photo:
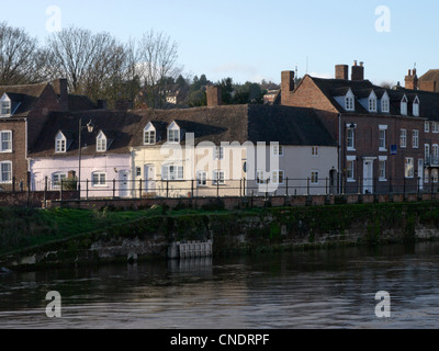
POLYGON ((108 110, 67 80, 0 87, 0 189, 81 197, 437 191, 439 72, 393 89, 338 65, 335 79, 282 72, 270 104, 108 110), (435 188, 436 186, 436 188, 435 188))

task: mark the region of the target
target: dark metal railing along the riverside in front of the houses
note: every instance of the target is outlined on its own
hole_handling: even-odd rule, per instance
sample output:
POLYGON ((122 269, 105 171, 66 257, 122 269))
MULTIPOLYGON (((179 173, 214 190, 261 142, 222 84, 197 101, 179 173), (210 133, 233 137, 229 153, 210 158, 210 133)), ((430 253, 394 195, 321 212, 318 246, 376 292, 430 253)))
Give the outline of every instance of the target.
POLYGON ((33 191, 59 192, 64 200, 67 192, 77 192, 77 199, 172 199, 172 197, 236 197, 236 196, 300 196, 337 194, 409 194, 438 193, 437 178, 379 178, 295 179, 283 178, 278 184, 270 180, 60 180, 49 179, 33 184, 33 191))

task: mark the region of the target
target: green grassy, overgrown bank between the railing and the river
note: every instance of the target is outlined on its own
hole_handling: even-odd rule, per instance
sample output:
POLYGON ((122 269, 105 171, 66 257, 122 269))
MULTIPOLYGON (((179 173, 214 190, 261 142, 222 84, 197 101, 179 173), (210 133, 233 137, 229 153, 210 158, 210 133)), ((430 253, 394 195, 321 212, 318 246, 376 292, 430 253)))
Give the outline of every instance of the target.
MULTIPOLYGON (((173 230, 184 239, 193 239, 192 236, 196 237, 196 233, 205 229, 205 223, 210 223, 210 230, 215 233, 216 242, 222 242, 225 248, 230 246, 229 249, 235 248, 234 237, 239 233, 246 233, 251 242, 267 241, 267 245, 273 246, 286 238, 283 230, 289 238, 303 239, 308 244, 317 242, 328 233, 342 238, 349 233, 358 231, 362 234, 363 242, 376 245, 389 240, 413 241, 419 227, 431 230, 439 228, 439 203, 436 202, 251 208, 234 212, 218 212, 218 208, 168 211, 160 206, 136 211, 0 208, 0 256, 106 228, 114 227, 109 233, 119 233, 121 225, 123 228, 124 224, 162 215, 176 217, 169 222, 175 228, 164 230, 173 230), (207 218, 215 214, 221 216, 215 216, 215 220, 207 218), (240 218, 248 217, 256 219, 255 224, 243 226, 240 218), (271 224, 263 224, 266 219, 271 224)), ((128 229, 130 226, 125 228, 128 229)))

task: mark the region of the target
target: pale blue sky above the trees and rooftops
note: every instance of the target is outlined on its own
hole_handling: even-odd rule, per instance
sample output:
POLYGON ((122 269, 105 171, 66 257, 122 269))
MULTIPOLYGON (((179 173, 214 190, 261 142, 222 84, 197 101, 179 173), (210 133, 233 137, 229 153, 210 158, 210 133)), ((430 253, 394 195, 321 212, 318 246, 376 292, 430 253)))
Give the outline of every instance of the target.
POLYGON ((375 83, 404 82, 439 68, 438 1, 408 0, 22 0, 2 4, 1 21, 24 27, 41 43, 46 10, 59 7, 61 25, 110 32, 122 41, 150 29, 179 44, 179 64, 216 81, 280 81, 282 70, 334 76, 337 64, 364 61, 375 83), (391 11, 391 32, 375 30, 375 9, 391 11))

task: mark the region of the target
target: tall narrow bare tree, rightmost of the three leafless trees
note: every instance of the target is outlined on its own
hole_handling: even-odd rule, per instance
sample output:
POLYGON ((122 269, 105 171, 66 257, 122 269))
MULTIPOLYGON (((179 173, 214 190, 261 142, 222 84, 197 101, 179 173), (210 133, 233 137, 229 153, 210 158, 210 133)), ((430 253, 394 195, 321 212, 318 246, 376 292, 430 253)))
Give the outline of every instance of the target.
POLYGON ((162 107, 167 78, 177 79, 181 73, 181 67, 177 66, 177 43, 171 42, 162 32, 150 30, 139 41, 135 57, 147 104, 150 107, 162 107))

